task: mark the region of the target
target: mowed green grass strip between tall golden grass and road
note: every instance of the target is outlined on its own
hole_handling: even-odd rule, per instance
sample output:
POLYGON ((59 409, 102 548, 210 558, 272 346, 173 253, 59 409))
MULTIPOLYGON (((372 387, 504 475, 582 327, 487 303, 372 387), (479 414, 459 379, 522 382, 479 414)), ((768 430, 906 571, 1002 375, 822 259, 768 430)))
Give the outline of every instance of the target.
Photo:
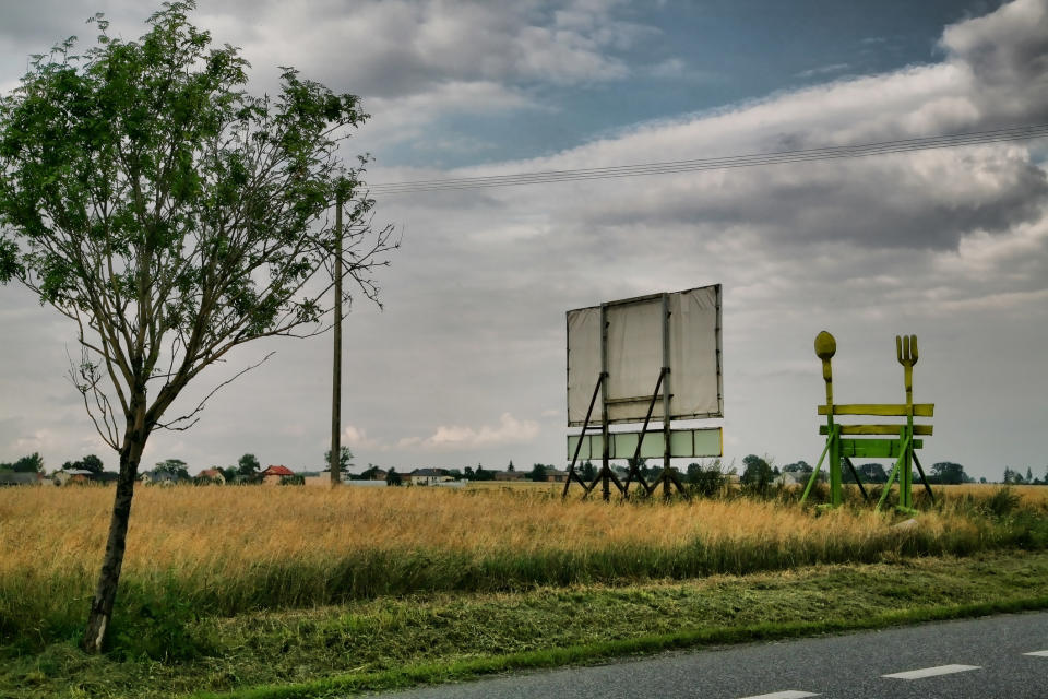
POLYGON ((338 696, 671 648, 1046 607, 1046 552, 381 597, 203 617, 188 632, 209 653, 181 663, 121 662, 53 643, 8 659, 0 696, 338 696))

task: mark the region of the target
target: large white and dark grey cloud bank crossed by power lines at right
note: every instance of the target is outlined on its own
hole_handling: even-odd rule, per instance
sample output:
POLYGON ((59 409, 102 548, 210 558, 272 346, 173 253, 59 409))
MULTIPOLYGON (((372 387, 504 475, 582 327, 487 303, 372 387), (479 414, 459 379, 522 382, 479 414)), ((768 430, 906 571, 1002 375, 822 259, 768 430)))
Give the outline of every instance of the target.
MULTIPOLYGON (((1048 90, 1045 2, 1020 0, 949 27, 940 63, 838 80, 719 111, 635 126, 556 155, 472 167, 452 175, 680 161, 741 153, 904 140, 1044 121, 1048 90), (1005 38, 1007 37, 1007 38, 1005 38), (1033 72, 1032 72, 1033 71, 1033 72), (989 104, 985 95, 1001 92, 989 104), (1043 93, 1043 94, 1041 94, 1043 93), (876 108, 873 108, 876 105, 876 108)), ((609 180, 580 185, 585 197, 549 198, 543 187, 484 196, 516 208, 532 202, 527 228, 546 240, 572 232, 609 253, 639 229, 658 229, 653 257, 701 246, 702 230, 767 250, 849 241, 860 249, 955 250, 967 236, 1003 234, 1039 218, 1048 177, 1026 144, 940 151, 609 180), (541 232, 550 232, 543 236, 541 232)), ((561 189, 564 189, 561 187, 561 189)), ((496 230, 521 228, 503 220, 496 230)), ((557 245, 557 244, 555 244, 557 245)))

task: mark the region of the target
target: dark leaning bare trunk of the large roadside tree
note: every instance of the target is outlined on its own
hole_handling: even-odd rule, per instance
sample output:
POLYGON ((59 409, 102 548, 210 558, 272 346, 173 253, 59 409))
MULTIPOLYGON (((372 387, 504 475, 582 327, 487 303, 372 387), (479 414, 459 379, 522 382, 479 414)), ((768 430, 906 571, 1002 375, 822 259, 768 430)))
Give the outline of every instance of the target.
POLYGON ((102 652, 109 631, 112 605, 117 599, 117 583, 123 567, 123 552, 127 547, 134 479, 147 436, 145 430, 128 430, 123 449, 120 450, 120 478, 117 481, 117 495, 112 502, 112 519, 109 520, 109 538, 106 541, 106 555, 102 561, 102 572, 98 574, 98 585, 95 588, 95 597, 87 615, 87 630, 84 633, 84 650, 88 653, 102 652))

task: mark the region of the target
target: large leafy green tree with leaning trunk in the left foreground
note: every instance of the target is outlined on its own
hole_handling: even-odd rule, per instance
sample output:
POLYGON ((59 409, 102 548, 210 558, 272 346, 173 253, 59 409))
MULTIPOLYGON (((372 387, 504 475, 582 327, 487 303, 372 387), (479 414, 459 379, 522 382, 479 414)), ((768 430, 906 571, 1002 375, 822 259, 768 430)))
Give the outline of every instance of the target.
MULTIPOLYGON (((106 553, 84 647, 100 651, 112 615, 134 481, 156 429, 191 381, 234 348, 326 330, 336 237, 325 212, 352 205, 343 275, 378 300, 372 272, 396 247, 371 228, 364 161, 341 141, 366 118, 284 69, 276 96, 245 91, 247 61, 189 23, 193 0, 165 3, 139 40, 107 33, 34 57, 0 98, 0 282, 15 280, 70 318, 81 344, 70 378, 118 454, 106 553)), ((348 298, 349 294, 346 294, 348 298)), ((253 365, 257 366, 257 365, 253 365)), ((181 412, 181 411, 179 411, 181 412)))

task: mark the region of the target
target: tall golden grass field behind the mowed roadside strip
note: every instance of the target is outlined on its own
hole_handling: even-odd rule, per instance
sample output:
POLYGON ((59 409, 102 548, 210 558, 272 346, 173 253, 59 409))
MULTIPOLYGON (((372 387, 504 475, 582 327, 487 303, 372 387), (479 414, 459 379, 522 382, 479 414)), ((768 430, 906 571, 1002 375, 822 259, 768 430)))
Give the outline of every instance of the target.
MULTIPOLYGON (((562 501, 553 489, 140 487, 123 600, 175 594, 234 614, 379 594, 745 573, 1003 545, 951 493, 920 525, 869 508, 814 516, 739 497, 562 501)), ((1048 488, 1016 488, 1044 508, 1048 488)), ((114 491, 0 490, 0 626, 75 619, 100 562, 114 491)), ((14 628, 12 628, 14 627, 14 628)))

